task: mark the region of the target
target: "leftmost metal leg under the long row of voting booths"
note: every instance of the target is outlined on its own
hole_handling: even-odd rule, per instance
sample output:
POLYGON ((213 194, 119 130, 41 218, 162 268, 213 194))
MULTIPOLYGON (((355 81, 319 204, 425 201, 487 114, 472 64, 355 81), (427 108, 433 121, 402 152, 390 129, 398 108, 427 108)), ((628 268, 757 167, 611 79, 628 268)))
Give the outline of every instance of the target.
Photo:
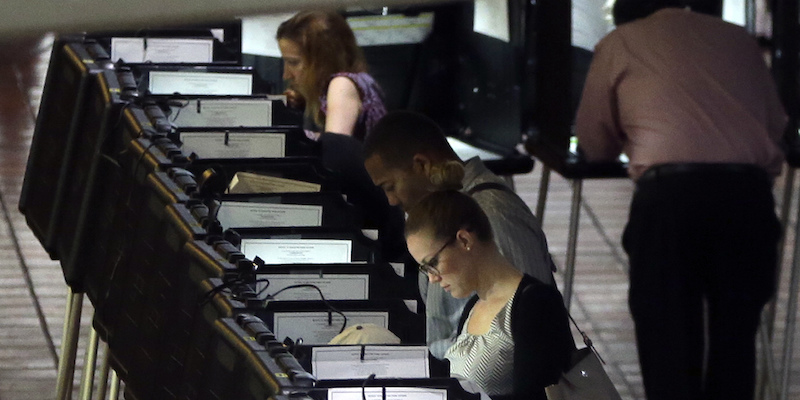
POLYGON ((56 400, 68 400, 72 394, 72 379, 75 375, 75 356, 78 352, 82 307, 83 293, 75 293, 72 288, 67 287, 64 332, 61 335, 61 356, 58 359, 56 400))

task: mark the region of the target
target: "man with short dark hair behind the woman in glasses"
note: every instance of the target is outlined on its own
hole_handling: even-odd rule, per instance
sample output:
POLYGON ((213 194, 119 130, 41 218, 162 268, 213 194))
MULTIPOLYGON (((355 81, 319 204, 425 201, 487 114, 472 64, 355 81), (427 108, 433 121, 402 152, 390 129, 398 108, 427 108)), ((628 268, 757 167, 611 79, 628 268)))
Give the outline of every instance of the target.
MULTIPOLYGON (((364 141, 367 172, 389 203, 409 210, 428 193, 458 189, 472 196, 489 217, 500 252, 521 272, 554 284, 547 240, 530 208, 477 157, 462 161, 430 118, 409 111, 383 117, 364 141)), ((420 277, 427 309, 431 354, 444 357, 465 299, 454 299, 420 277)))

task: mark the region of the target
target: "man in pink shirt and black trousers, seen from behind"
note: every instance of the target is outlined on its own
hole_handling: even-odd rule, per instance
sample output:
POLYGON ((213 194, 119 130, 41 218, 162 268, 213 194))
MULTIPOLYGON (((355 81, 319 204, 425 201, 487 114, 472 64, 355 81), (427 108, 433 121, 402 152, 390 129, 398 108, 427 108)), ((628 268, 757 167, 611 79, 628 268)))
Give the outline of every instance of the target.
POLYGON ((775 290, 783 107, 744 29, 681 0, 618 0, 614 17, 576 130, 588 160, 630 158, 622 242, 647 397, 751 400, 775 290))

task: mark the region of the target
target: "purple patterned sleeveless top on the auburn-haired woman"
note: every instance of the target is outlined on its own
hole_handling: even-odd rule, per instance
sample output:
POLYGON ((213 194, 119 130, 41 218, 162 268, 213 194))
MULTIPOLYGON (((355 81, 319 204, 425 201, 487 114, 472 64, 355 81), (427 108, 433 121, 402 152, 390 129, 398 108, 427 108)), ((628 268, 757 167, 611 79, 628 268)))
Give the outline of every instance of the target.
MULTIPOLYGON (((361 96, 361 112, 358 114, 356 126, 353 128, 353 137, 363 141, 372 131, 372 127, 378 123, 378 120, 386 115, 386 107, 383 105, 383 91, 378 86, 378 83, 372 79, 372 76, 366 72, 340 72, 331 75, 331 79, 337 76, 347 77, 358 88, 358 94, 361 96)), ((327 113, 327 94, 320 97, 320 103, 322 112, 327 113)))

